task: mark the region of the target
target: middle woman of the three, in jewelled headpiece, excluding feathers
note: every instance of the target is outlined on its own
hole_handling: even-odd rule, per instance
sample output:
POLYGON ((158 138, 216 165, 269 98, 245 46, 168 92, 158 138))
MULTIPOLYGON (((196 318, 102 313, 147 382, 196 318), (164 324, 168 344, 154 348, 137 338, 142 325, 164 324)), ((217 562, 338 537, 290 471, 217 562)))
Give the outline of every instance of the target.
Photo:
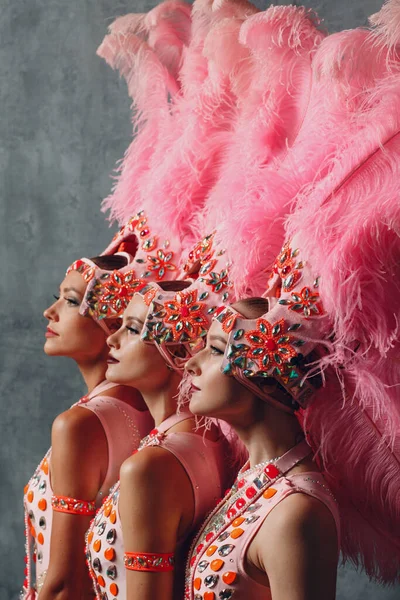
MULTIPOLYGON (((222 253, 219 260, 221 267, 222 253)), ((186 408, 177 412, 183 365, 207 331, 209 303, 225 293, 225 285, 213 292, 200 280, 150 284, 108 339, 107 379, 141 392, 156 429, 124 462, 89 530, 97 598, 181 597, 188 540, 232 483, 219 428, 199 427, 186 408)))

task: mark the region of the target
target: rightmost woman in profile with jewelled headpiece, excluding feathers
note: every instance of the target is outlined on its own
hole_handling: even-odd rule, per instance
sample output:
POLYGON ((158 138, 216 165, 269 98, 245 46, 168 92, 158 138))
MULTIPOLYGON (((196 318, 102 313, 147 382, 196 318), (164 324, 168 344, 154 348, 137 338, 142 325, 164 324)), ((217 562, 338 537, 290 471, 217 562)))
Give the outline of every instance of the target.
POLYGON ((307 319, 297 311, 291 318, 284 290, 272 310, 263 298, 239 301, 218 314, 207 346, 186 365, 190 409, 227 421, 249 451, 193 543, 187 598, 335 598, 338 509, 294 413, 312 391, 310 380, 298 385, 304 360, 296 332, 306 322, 301 352, 309 353, 324 327, 314 280, 301 273, 296 285, 300 278, 312 289, 307 319))

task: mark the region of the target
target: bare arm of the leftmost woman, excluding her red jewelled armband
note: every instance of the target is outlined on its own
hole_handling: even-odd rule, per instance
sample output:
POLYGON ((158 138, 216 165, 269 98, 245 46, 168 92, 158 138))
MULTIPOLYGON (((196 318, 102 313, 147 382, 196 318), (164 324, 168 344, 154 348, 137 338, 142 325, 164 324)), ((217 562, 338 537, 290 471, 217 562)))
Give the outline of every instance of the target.
MULTIPOLYGON (((93 501, 107 465, 106 434, 92 411, 74 407, 56 418, 50 465, 55 495, 93 501)), ((80 600, 89 595, 84 535, 92 518, 53 511, 50 564, 40 600, 80 600)))

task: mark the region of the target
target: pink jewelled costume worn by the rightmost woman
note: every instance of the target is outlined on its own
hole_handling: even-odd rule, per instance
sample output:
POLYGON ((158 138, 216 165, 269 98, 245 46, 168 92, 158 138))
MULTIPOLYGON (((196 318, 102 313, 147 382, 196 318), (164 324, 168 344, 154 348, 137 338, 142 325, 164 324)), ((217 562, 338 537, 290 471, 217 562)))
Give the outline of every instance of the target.
POLYGON ((194 600, 252 600, 271 598, 268 588, 245 570, 246 552, 266 517, 291 494, 307 494, 323 502, 340 531, 336 501, 321 473, 285 476, 310 454, 301 442, 274 462, 249 468, 246 464, 224 500, 198 532, 190 553, 185 598, 194 600))

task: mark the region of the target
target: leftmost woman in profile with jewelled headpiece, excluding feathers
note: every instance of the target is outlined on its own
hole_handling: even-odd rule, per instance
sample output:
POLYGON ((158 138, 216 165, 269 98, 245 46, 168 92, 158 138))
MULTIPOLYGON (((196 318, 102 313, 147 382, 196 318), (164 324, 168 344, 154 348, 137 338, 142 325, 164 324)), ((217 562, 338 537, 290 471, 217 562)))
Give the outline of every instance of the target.
POLYGON ((109 255, 73 263, 59 296, 44 312, 46 354, 72 358, 87 393, 55 419, 52 447, 25 488, 26 598, 37 593, 42 600, 92 596, 82 552, 85 531, 117 481, 122 462, 153 424, 136 390, 105 381, 106 338, 129 301, 123 283, 133 274, 132 258, 115 252, 121 244, 132 249, 133 236, 124 228, 109 255), (117 273, 112 281, 111 269, 117 273), (101 283, 93 287, 97 277, 101 283), (98 302, 105 296, 106 312, 104 302, 98 302))

